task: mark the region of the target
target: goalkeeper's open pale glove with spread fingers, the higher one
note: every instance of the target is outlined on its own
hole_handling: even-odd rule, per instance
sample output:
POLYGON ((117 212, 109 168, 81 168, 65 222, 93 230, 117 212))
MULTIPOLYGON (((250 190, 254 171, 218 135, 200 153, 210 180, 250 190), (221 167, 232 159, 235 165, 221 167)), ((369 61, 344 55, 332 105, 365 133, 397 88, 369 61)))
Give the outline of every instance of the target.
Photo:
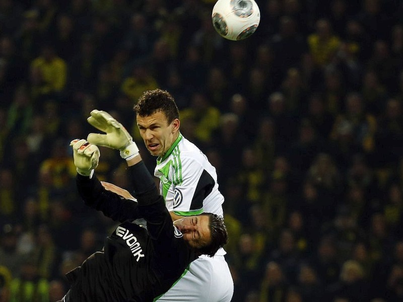
POLYGON ((121 123, 105 111, 93 110, 87 121, 106 134, 90 133, 87 140, 99 146, 120 150, 126 161, 139 155, 139 148, 121 123))

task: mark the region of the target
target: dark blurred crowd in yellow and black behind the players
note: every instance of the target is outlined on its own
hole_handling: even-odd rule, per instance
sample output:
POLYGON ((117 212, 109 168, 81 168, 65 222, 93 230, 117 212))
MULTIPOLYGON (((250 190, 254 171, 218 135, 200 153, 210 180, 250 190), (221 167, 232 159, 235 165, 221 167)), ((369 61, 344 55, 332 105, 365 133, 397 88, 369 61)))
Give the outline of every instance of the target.
MULTIPOLYGON (((403 301, 403 2, 0 0, 0 302, 54 302, 115 222, 77 194, 70 141, 162 88, 216 167, 239 302, 403 301)), ((117 152, 101 180, 130 189, 117 152)))

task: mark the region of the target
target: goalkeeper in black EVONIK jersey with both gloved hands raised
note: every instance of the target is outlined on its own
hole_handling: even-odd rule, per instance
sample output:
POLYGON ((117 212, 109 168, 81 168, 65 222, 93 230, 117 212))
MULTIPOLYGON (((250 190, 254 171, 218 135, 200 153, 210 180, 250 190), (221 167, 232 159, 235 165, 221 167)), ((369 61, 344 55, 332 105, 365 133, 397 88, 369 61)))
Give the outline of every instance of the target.
POLYGON ((215 214, 172 223, 137 145, 123 127, 113 125, 117 126, 114 133, 98 139, 102 145, 120 150, 137 201, 121 199, 102 186, 94 174, 100 156, 96 145, 84 139, 72 141, 81 197, 87 205, 122 223, 106 238, 102 252, 66 274, 71 287, 61 300, 64 302, 153 301, 172 286, 192 260, 201 254, 214 255, 227 241, 223 219, 215 214), (145 218, 147 230, 128 220, 133 216, 145 218))

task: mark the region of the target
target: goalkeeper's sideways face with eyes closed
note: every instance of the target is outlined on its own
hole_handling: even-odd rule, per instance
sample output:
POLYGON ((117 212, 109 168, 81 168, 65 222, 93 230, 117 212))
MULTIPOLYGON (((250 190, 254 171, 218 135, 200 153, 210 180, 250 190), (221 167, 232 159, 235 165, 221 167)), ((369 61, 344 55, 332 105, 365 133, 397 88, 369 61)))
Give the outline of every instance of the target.
POLYGON ((173 222, 183 234, 183 240, 193 248, 201 248, 210 243, 209 223, 210 218, 207 215, 184 217, 173 222))

